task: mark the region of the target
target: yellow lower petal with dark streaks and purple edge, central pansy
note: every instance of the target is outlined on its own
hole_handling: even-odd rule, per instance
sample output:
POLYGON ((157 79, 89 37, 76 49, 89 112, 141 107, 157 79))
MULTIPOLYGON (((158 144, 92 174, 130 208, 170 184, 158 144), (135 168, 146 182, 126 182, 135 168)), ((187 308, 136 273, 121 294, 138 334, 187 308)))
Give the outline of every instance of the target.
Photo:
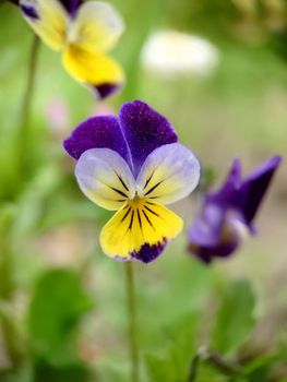
POLYGON ((129 201, 100 232, 103 251, 119 260, 135 258, 145 263, 160 254, 182 229, 182 219, 148 199, 129 201))

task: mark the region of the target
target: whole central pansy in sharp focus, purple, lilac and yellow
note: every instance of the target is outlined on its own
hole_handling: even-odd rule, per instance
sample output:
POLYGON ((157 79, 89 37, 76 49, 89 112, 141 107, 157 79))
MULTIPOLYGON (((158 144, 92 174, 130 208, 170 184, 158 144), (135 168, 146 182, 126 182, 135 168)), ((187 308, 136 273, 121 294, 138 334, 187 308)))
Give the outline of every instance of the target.
POLYGON ((64 141, 83 193, 117 211, 100 232, 107 255, 148 263, 182 229, 164 204, 193 191, 200 164, 177 141, 169 121, 140 100, 124 104, 119 117, 87 119, 64 141))

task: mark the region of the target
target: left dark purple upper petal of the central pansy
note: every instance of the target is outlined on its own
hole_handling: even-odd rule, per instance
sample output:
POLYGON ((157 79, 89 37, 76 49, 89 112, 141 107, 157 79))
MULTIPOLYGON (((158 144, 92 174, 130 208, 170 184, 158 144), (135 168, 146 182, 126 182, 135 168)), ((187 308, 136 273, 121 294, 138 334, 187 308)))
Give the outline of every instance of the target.
POLYGON ((112 116, 93 117, 82 122, 63 142, 63 147, 75 159, 89 148, 110 148, 125 160, 128 156, 118 118, 112 116))

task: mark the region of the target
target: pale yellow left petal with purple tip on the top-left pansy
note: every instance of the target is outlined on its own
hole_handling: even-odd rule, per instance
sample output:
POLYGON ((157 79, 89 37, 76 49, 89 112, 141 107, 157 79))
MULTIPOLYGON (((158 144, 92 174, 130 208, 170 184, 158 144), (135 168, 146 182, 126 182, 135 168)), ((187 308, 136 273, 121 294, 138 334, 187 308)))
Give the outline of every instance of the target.
POLYGON ((53 50, 63 48, 69 15, 58 0, 21 0, 22 13, 35 33, 53 50))

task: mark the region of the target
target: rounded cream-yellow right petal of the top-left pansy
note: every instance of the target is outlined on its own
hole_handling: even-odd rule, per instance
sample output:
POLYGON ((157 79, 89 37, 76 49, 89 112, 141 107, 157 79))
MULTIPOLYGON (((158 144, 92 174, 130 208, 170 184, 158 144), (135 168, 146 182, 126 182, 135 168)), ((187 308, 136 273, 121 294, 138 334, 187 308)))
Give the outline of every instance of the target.
POLYGON ((105 52, 115 46, 123 28, 123 21, 112 5, 88 1, 80 7, 71 23, 69 41, 86 50, 105 52))

